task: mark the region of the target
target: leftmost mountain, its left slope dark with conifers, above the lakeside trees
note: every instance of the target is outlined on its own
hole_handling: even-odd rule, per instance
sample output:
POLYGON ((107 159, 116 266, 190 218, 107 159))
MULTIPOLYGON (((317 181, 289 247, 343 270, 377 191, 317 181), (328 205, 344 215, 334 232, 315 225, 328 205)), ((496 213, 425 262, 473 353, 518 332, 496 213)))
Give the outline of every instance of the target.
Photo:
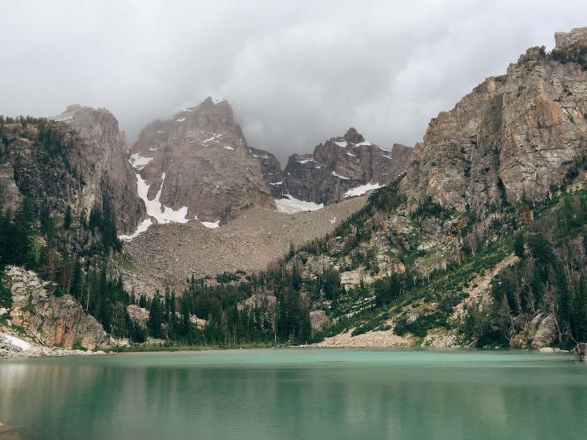
POLYGON ((87 219, 97 208, 121 232, 144 217, 124 135, 108 110, 71 105, 50 119, 2 117, 0 132, 3 208, 14 211, 24 197, 50 217, 69 209, 87 219))

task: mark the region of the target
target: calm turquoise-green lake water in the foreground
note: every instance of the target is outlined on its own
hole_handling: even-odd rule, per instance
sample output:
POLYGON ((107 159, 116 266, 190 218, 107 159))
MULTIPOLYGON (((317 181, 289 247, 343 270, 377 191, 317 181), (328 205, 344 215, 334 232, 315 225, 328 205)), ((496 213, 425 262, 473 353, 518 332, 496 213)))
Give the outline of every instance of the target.
POLYGON ((0 362, 0 437, 585 439, 569 353, 263 349, 0 362))

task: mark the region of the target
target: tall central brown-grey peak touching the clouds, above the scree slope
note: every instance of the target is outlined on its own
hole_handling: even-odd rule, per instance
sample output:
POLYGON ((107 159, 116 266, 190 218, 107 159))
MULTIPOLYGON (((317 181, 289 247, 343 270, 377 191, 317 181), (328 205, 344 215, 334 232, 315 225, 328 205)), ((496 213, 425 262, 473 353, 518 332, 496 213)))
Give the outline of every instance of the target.
POLYGON ((183 208, 181 221, 226 221, 249 207, 275 207, 261 163, 226 101, 207 98, 171 120, 152 122, 133 145, 131 163, 148 199, 159 196, 175 212, 183 208))

